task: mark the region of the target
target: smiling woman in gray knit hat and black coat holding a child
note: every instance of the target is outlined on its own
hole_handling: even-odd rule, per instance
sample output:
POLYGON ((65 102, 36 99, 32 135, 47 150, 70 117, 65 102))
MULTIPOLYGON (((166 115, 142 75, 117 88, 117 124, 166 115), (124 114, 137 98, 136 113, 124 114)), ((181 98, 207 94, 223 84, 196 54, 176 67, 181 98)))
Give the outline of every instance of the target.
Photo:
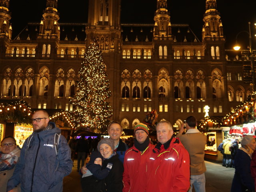
POLYGON ((97 148, 103 156, 102 169, 106 168, 108 164, 112 164, 108 176, 102 180, 102 191, 122 192, 124 166, 114 151, 114 140, 104 138, 98 142, 97 148))

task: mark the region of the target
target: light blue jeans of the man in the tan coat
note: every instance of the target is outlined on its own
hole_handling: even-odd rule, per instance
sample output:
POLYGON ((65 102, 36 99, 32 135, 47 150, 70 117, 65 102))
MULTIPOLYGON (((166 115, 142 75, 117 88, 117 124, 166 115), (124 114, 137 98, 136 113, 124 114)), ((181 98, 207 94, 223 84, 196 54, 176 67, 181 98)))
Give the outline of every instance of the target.
POLYGON ((200 175, 190 175, 190 188, 188 192, 192 192, 193 185, 196 192, 205 192, 205 176, 204 173, 200 175))

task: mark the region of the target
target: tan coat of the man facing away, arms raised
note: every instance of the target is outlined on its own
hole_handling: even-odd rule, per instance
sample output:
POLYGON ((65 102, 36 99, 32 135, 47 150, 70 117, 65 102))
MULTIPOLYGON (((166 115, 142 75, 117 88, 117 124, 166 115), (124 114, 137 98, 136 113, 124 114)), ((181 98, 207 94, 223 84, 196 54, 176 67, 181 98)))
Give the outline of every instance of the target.
POLYGON ((197 133, 186 133, 179 137, 190 156, 190 175, 200 175, 206 171, 204 163, 204 149, 206 135, 197 133))

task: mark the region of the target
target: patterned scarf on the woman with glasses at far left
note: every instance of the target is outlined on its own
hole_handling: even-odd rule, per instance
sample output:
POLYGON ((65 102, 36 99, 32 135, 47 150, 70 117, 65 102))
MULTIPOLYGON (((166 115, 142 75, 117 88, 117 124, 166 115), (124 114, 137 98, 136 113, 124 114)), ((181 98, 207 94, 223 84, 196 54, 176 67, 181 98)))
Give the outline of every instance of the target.
POLYGON ((0 171, 14 168, 20 157, 20 149, 17 147, 10 153, 0 153, 0 171))

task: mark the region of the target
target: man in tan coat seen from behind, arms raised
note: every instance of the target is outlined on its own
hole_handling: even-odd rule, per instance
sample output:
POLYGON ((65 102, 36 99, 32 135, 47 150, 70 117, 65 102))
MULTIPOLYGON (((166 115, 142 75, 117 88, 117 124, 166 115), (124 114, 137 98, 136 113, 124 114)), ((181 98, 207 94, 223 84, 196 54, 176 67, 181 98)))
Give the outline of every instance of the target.
POLYGON ((205 176, 206 167, 204 164, 204 148, 206 145, 206 135, 201 134, 196 128, 196 118, 189 116, 186 118, 186 134, 184 132, 184 124, 176 138, 179 138, 190 156, 190 189, 192 192, 193 185, 196 192, 205 192, 205 176))

